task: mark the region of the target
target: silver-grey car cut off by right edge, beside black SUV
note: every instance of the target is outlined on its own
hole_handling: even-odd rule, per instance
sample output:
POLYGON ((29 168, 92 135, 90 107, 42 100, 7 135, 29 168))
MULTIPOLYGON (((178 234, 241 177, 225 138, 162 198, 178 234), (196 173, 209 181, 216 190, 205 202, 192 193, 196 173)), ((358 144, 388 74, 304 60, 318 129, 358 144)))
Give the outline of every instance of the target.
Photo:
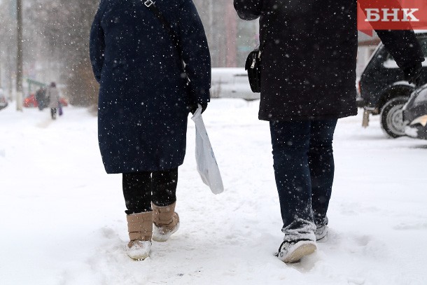
POLYGON ((427 139, 427 84, 415 90, 403 106, 403 119, 408 137, 427 139))

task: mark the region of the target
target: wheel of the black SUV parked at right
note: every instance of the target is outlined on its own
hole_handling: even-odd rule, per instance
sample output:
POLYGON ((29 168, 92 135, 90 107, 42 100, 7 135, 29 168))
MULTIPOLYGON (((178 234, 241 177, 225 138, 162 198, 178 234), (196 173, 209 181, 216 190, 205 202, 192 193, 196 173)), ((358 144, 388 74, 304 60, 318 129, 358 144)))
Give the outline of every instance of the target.
POLYGON ((382 107, 381 128, 388 137, 395 139, 405 136, 407 123, 403 121, 402 107, 408 99, 408 97, 395 97, 382 107))

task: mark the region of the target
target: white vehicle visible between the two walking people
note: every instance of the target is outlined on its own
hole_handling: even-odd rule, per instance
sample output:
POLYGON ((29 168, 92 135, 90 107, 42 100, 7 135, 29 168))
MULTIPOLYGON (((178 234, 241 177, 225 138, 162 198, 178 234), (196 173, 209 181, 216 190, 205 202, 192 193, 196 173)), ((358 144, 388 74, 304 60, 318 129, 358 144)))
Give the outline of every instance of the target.
POLYGON ((212 69, 212 98, 260 99, 260 93, 253 93, 244 68, 218 67, 212 69))

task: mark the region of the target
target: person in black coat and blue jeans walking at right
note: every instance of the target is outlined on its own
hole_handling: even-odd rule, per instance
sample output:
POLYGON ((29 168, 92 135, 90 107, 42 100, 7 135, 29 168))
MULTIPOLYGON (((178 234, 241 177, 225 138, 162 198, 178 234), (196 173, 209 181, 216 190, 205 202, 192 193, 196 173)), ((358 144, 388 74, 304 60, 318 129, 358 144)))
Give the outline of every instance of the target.
MULTIPOLYGON (((356 107, 357 1, 234 0, 243 20, 260 18, 260 120, 269 121, 282 232, 278 256, 295 262, 327 234, 332 139, 356 107)), ((414 32, 377 31, 408 81, 424 57, 414 32)))

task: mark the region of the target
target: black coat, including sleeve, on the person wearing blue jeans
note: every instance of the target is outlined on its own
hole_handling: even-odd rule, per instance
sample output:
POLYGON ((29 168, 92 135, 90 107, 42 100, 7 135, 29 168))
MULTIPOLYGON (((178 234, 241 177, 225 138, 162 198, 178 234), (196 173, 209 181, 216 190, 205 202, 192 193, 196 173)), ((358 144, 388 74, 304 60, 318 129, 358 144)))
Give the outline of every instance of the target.
MULTIPOLYGON (((333 119, 356 108, 356 0, 234 0, 260 18, 261 120, 333 119)), ((401 69, 424 60, 412 31, 377 31, 401 69)))

